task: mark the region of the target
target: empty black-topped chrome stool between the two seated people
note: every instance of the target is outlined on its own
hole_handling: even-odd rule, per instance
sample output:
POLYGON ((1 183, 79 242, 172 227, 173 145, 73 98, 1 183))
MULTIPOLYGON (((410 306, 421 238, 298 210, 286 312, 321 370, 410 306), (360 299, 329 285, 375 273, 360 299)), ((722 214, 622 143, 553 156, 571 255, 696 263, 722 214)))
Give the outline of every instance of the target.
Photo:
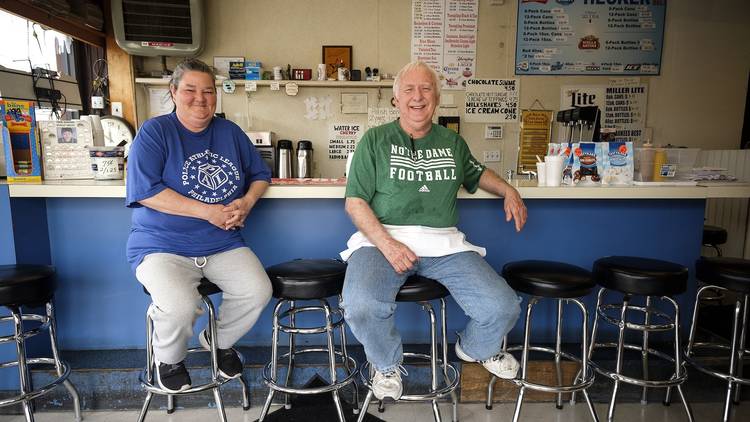
MULTIPOLYGON (((344 410, 341 406, 339 390, 354 382, 357 373, 357 361, 350 357, 346 351, 346 329, 344 317, 341 310, 332 308, 327 297, 339 295, 341 300, 341 289, 344 286, 346 275, 346 264, 332 259, 297 259, 266 268, 268 277, 273 285, 273 296, 278 299, 273 310, 273 340, 271 343, 271 361, 263 368, 263 379, 268 385, 269 392, 265 405, 261 411, 259 421, 268 414, 277 391, 286 393, 284 406, 291 407, 290 394, 320 394, 332 393, 333 402, 336 406, 339 422, 345 422, 344 410), (317 306, 299 306, 298 301, 315 301, 317 306), (286 310, 282 311, 285 307, 286 310), (315 327, 300 327, 296 316, 303 313, 317 312, 325 317, 325 324, 315 327), (282 323, 281 321, 288 321, 282 323), (341 347, 336 350, 334 335, 339 329, 341 347), (278 343, 279 332, 289 335, 289 352, 279 356, 278 343), (303 347, 296 346, 296 336, 304 334, 325 334, 326 347, 303 347), (330 383, 320 387, 296 387, 290 384, 292 371, 294 370, 296 356, 307 353, 326 353, 328 355, 328 368, 330 372, 330 383), (344 366, 346 376, 338 379, 336 374, 337 358, 340 358, 344 366), (279 359, 287 360, 286 381, 282 384, 278 381, 279 359)), ((354 386, 354 413, 358 412, 356 384, 354 386)))

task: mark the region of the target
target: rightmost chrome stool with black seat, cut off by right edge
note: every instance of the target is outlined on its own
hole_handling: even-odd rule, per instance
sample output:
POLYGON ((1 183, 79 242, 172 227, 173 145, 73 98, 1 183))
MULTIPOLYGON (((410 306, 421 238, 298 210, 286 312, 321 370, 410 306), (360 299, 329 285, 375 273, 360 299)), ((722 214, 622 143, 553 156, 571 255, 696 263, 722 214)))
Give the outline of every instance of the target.
MULTIPOLYGON (((745 349, 747 338, 748 313, 750 310, 750 260, 740 258, 701 257, 695 262, 696 278, 704 285, 698 289, 695 297, 695 308, 693 309, 693 321, 690 326, 690 336, 686 350, 687 362, 699 371, 723 379, 727 382, 727 395, 724 402, 723 420, 728 421, 732 401, 739 404, 742 393, 742 385, 750 385, 750 378, 743 377, 742 367, 750 356, 750 350, 745 349), (709 289, 720 292, 731 291, 735 293, 734 319, 732 323, 732 337, 730 343, 697 342, 695 332, 700 307, 698 306, 703 294, 709 289), (695 351, 698 349, 729 350, 729 371, 721 372, 710 369, 696 359, 695 351), (734 389, 734 399, 732 399, 734 389)), ((711 294, 711 293, 709 293, 711 294)))

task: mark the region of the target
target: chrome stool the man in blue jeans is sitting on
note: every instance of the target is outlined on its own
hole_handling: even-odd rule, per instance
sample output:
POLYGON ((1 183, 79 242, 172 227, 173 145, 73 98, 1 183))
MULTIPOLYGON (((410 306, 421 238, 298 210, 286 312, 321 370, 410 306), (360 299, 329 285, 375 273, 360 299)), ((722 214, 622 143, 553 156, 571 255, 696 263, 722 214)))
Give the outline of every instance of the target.
MULTIPOLYGON (((401 289, 396 295, 396 302, 416 302, 422 306, 427 315, 430 318, 430 353, 412 353, 404 352, 405 358, 428 360, 430 362, 430 389, 427 392, 421 394, 404 394, 399 399, 400 401, 430 401, 432 402, 432 413, 435 417, 436 422, 441 422, 440 408, 438 407, 438 399, 448 394, 451 395, 452 411, 453 411, 453 422, 458 421, 458 396, 456 394, 456 387, 458 387, 460 381, 460 373, 456 367, 448 362, 448 340, 447 340, 447 319, 445 311, 445 298, 450 293, 448 289, 442 284, 435 280, 422 276, 411 276, 406 279, 406 282, 401 286, 401 289), (437 340, 437 318, 435 310, 431 300, 440 301, 440 344, 441 350, 438 351, 438 340, 437 340), (440 355, 438 355, 440 353, 440 355), (438 368, 440 366, 440 368, 438 368), (442 371, 442 382, 438 380, 440 376, 438 371, 442 371)), ((367 413, 367 407, 373 398, 372 392, 372 375, 374 370, 369 362, 362 365, 360 371, 362 382, 368 388, 365 402, 362 404, 362 412, 359 415, 358 422, 362 422, 365 419, 367 413), (365 369, 367 369, 368 375, 365 375, 365 369)), ((378 406, 378 411, 383 412, 383 402, 381 401, 378 406)))

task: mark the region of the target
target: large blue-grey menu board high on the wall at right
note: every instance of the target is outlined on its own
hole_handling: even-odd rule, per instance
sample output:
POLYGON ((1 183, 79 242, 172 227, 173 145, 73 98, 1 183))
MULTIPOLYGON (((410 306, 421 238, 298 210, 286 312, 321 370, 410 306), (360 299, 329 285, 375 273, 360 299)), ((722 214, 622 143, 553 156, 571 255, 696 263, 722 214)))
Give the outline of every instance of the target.
POLYGON ((516 75, 658 75, 666 0, 519 0, 516 75))

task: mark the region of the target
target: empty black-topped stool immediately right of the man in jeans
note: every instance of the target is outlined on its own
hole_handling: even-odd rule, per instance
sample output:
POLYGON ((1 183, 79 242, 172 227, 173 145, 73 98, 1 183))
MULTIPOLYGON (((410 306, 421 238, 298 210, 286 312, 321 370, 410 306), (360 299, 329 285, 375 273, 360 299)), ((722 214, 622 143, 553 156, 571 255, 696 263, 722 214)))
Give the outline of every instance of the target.
MULTIPOLYGON (((588 363, 588 311, 586 306, 578 299, 591 293, 595 283, 591 278, 591 272, 576 267, 575 265, 565 264, 553 261, 517 261, 505 264, 503 267, 503 278, 508 281, 508 285, 513 290, 525 293, 529 296, 529 303, 526 307, 526 321, 524 325, 523 346, 509 347, 507 351, 521 350, 521 377, 513 382, 521 387, 516 400, 516 409, 513 414, 513 421, 517 422, 521 415, 521 405, 526 389, 543 391, 547 393, 557 393, 556 407, 562 409, 563 393, 573 393, 582 391, 586 399, 591 418, 598 421, 594 406, 589 399, 586 389, 594 382, 594 372, 589 369, 588 363), (555 348, 550 349, 542 346, 531 346, 531 313, 534 305, 540 299, 549 298, 557 301, 557 330, 555 336, 555 348), (573 356, 562 351, 562 321, 563 321, 563 304, 572 303, 581 311, 583 322, 581 325, 581 358, 573 356), (544 352, 554 355, 555 369, 557 372, 557 385, 545 385, 530 382, 527 378, 529 351, 544 352), (581 364, 581 370, 573 383, 562 385, 562 370, 560 360, 564 358, 569 361, 581 364)), ((493 376, 487 386, 487 408, 492 408, 493 386, 497 377, 493 376)), ((574 402, 574 400, 571 400, 574 402)))

